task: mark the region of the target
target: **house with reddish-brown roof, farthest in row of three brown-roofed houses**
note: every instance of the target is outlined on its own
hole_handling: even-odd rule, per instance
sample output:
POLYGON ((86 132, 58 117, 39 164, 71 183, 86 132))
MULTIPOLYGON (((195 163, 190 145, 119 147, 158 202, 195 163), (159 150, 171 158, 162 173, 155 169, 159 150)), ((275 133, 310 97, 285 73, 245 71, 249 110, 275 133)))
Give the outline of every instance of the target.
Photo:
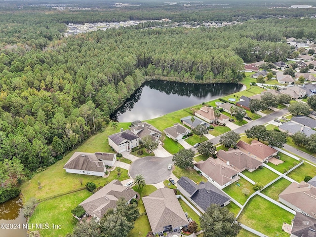
POLYGON ((248 153, 248 155, 258 159, 261 162, 265 162, 266 160, 277 155, 276 149, 269 147, 257 140, 252 140, 251 144, 240 140, 237 142, 237 148, 245 153, 248 153))

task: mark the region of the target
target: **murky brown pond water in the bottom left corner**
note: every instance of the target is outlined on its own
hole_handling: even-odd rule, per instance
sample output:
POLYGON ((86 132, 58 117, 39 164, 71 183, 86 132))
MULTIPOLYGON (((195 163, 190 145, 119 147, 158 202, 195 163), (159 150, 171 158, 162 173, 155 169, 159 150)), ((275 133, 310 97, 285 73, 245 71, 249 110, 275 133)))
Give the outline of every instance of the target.
POLYGON ((22 213, 22 199, 15 197, 0 204, 0 236, 27 237, 26 220, 22 213), (24 225, 24 226, 23 226, 24 225), (3 226, 5 228, 3 228, 3 226))

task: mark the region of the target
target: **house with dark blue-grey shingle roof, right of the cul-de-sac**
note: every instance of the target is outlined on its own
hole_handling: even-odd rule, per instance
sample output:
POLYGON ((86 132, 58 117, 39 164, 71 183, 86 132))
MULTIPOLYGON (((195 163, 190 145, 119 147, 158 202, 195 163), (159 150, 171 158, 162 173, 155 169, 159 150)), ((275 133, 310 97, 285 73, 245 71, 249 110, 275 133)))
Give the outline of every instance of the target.
POLYGON ((182 176, 177 184, 179 192, 189 199, 202 213, 204 213, 211 204, 224 207, 231 202, 231 198, 210 182, 200 182, 197 185, 188 177, 182 176))

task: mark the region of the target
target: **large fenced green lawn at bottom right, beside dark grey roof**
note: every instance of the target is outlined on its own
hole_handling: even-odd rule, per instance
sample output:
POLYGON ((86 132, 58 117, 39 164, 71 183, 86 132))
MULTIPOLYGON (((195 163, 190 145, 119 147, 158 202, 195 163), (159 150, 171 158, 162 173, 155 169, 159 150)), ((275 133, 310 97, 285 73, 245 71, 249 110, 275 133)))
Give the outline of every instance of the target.
POLYGON ((291 224, 294 215, 263 197, 256 195, 244 207, 238 221, 267 236, 289 237, 282 231, 282 224, 291 224))

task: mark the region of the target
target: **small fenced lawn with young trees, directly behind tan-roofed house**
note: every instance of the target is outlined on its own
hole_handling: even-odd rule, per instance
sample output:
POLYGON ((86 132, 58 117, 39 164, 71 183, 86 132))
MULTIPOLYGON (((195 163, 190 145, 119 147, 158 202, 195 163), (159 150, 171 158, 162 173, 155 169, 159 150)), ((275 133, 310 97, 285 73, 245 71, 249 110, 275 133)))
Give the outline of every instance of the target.
POLYGON ((240 177, 238 181, 224 188, 223 191, 227 193, 229 196, 233 197, 242 205, 246 202, 248 197, 255 192, 255 190, 253 189, 253 185, 242 177, 240 177), (237 184, 239 184, 239 187, 237 184), (242 194, 242 189, 248 189, 250 191, 250 194, 247 196, 242 194))

